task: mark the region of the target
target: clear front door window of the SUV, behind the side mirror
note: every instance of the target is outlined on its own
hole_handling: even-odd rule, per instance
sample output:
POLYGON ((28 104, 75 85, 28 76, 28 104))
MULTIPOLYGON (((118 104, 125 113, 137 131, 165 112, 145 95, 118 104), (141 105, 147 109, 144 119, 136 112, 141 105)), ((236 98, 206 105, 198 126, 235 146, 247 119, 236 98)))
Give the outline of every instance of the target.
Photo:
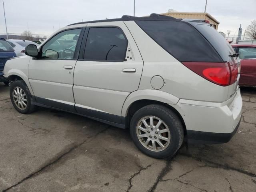
POLYGON ((81 29, 60 32, 42 47, 42 58, 73 59, 81 29))

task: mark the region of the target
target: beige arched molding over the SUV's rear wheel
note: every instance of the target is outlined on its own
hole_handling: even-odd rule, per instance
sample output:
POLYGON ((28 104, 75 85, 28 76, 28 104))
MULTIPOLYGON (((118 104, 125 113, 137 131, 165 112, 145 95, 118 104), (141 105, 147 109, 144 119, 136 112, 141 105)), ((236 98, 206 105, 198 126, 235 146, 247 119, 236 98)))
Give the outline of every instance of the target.
POLYGON ((130 105, 138 100, 155 100, 166 104, 177 104, 180 100, 176 96, 160 90, 144 89, 132 92, 125 100, 121 116, 127 115, 130 105))

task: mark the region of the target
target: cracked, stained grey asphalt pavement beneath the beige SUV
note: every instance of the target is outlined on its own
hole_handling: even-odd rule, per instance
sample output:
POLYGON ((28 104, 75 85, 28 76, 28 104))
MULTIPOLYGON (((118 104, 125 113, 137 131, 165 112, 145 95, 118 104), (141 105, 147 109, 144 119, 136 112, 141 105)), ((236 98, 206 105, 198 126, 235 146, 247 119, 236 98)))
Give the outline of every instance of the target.
POLYGON ((0 191, 256 191, 256 88, 241 88, 242 122, 226 144, 185 145, 157 160, 129 131, 56 110, 23 115, 0 84, 0 191))

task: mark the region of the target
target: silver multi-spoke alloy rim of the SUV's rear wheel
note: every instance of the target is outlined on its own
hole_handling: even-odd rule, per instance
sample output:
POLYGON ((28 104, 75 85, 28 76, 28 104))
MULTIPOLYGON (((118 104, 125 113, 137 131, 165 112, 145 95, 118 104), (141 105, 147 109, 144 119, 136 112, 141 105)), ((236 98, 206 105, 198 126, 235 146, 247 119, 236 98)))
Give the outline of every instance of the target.
POLYGON ((141 118, 136 127, 136 134, 140 143, 154 152, 165 150, 171 141, 168 126, 155 116, 141 118))

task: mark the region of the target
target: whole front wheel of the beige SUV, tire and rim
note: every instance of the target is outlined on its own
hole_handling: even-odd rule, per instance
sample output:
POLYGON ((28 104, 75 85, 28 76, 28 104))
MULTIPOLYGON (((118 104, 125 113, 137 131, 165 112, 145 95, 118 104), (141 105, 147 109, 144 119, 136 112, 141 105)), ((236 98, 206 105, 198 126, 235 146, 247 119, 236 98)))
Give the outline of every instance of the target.
POLYGON ((10 85, 10 98, 14 108, 23 114, 29 114, 36 109, 28 86, 23 80, 18 80, 10 85))

